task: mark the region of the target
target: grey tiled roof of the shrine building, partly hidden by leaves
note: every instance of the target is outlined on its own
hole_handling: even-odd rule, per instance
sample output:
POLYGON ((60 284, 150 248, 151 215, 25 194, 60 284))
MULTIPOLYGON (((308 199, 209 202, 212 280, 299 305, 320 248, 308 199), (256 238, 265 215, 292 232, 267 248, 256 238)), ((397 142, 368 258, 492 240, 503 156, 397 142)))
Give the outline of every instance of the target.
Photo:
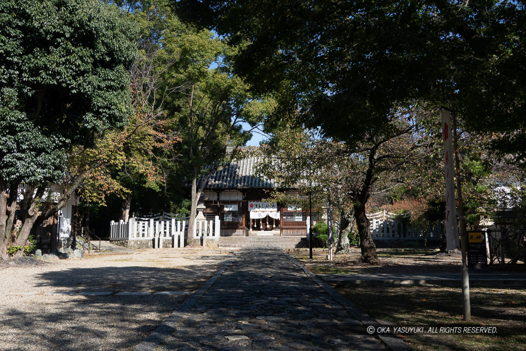
POLYGON ((246 189, 275 188, 275 179, 266 179, 254 174, 254 166, 261 162, 261 156, 250 156, 232 163, 210 176, 205 189, 246 189))

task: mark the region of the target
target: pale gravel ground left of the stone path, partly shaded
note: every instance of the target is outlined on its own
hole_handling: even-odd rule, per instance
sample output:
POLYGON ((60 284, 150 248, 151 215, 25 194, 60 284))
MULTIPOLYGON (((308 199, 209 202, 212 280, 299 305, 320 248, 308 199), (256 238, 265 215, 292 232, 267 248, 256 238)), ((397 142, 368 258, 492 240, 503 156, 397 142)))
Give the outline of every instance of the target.
POLYGON ((185 248, 0 261, 0 349, 131 349, 232 254, 232 249, 185 248), (47 295, 56 292, 112 294, 47 295))

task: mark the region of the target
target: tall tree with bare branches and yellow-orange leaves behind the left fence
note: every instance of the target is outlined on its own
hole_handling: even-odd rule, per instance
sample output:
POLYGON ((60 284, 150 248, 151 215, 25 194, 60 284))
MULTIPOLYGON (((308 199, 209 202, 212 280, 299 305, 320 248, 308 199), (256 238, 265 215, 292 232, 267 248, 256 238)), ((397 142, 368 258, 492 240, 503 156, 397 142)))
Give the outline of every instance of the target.
POLYGON ((142 116, 138 125, 128 128, 128 134, 142 132, 140 138, 150 142, 140 143, 135 138, 135 142, 143 146, 139 153, 137 146, 126 142, 131 146, 125 148, 131 162, 125 162, 120 169, 113 171, 113 176, 125 189, 120 219, 128 220, 133 193, 144 186, 160 191, 159 186, 166 185, 165 179, 173 171, 178 155, 174 142, 179 140, 179 131, 174 116, 167 113, 167 101, 183 91, 184 82, 178 78, 190 63, 185 55, 181 55, 181 47, 193 32, 178 20, 167 1, 116 3, 130 13, 139 27, 139 54, 130 73, 132 104, 142 116), (144 134, 145 127, 150 129, 147 135, 144 134), (157 181, 153 181, 154 178, 157 181))

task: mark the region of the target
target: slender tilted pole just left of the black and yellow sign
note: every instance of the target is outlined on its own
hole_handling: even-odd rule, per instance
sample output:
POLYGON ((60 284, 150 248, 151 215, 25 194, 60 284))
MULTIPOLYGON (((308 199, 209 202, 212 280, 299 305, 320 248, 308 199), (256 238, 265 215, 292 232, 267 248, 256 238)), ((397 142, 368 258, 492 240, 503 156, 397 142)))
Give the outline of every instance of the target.
POLYGON ((459 215, 459 227, 460 227, 460 248, 462 250, 462 297, 463 297, 463 315, 466 322, 471 320, 471 303, 469 296, 469 270, 468 270, 468 257, 467 257, 467 244, 468 238, 466 236, 466 223, 464 222, 464 203, 462 200, 462 177, 460 175, 460 157, 459 157, 459 144, 457 135, 457 113, 452 111, 451 129, 453 132, 453 147, 455 154, 455 168, 456 168, 456 180, 457 180, 457 201, 458 201, 458 215, 459 215))

